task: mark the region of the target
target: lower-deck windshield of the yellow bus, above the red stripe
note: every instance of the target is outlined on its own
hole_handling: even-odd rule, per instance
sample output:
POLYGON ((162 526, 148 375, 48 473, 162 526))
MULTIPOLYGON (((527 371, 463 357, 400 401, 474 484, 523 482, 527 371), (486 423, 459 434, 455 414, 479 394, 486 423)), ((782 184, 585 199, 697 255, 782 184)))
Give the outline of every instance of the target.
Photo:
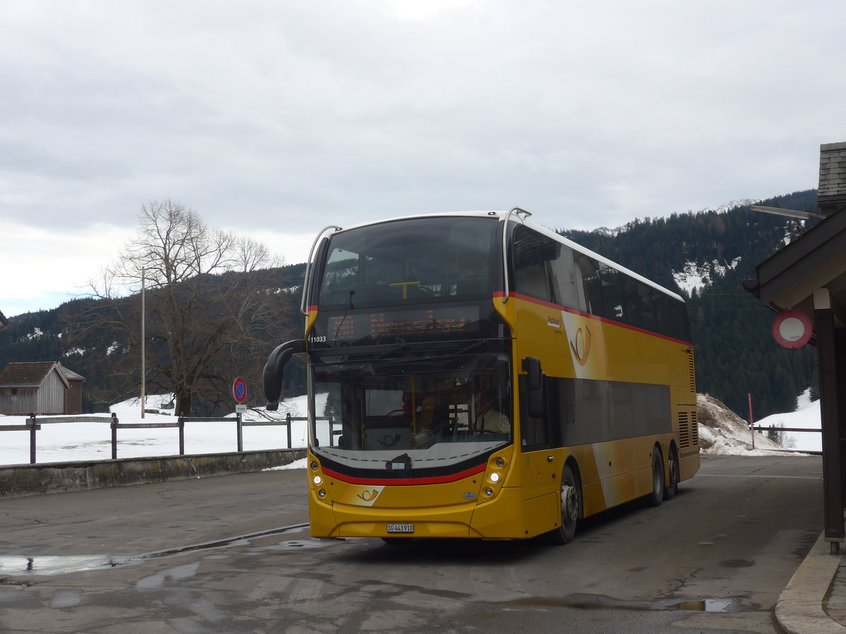
POLYGON ((315 363, 312 451, 365 469, 445 467, 511 439, 505 353, 315 363))

